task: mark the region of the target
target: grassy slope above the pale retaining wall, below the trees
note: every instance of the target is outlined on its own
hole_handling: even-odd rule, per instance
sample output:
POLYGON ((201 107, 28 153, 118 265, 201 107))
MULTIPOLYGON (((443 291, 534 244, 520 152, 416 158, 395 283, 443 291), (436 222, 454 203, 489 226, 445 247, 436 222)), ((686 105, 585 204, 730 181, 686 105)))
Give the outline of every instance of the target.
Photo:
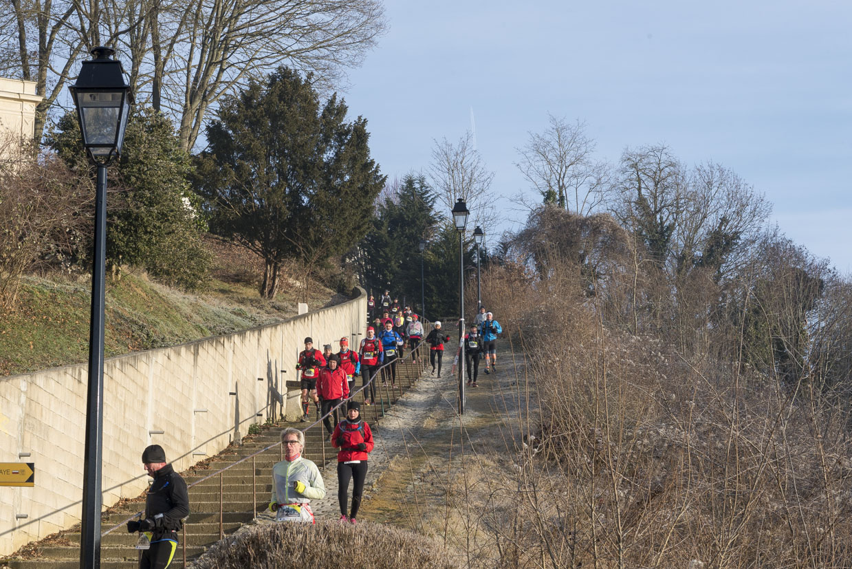
MULTIPOLYGON (((235 274, 233 256, 218 255, 207 290, 181 293, 141 275, 107 278, 106 355, 176 345, 228 334, 296 315, 292 286, 272 302, 261 299, 246 265, 235 274), (223 269, 227 267, 227 271, 223 269), (224 279, 224 280, 222 280, 224 279)), ((334 292, 310 287, 311 310, 337 302, 334 292)), ((14 310, 0 312, 0 376, 83 363, 89 358, 88 279, 28 276, 14 310)))

